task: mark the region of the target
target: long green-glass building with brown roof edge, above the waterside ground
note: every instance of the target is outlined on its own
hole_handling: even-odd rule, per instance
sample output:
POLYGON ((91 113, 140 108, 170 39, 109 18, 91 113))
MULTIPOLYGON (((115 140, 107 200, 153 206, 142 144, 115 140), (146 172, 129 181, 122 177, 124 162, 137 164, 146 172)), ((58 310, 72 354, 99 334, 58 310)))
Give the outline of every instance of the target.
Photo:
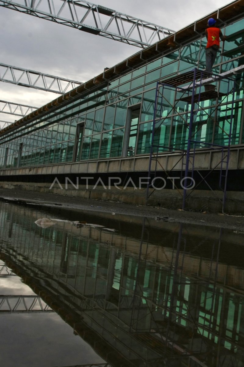
MULTIPOLYGON (((223 34, 229 37, 224 53, 216 59, 215 73, 242 63, 243 46, 236 47, 234 41, 240 43, 243 37, 243 14, 242 0, 213 13, 214 17, 219 17, 223 34)), ((2 185, 4 182, 15 185, 17 181, 22 186, 34 185, 36 190, 42 186, 48 191, 57 175, 62 184, 67 175, 73 182, 76 182, 76 176, 94 177, 90 185, 102 176, 106 186, 111 172, 121 179, 121 185, 128 172, 134 175, 133 178, 144 177, 149 167, 156 83, 195 67, 204 69, 206 23, 207 17, 192 23, 3 129, 0 132, 2 185)), ((176 100, 174 93, 165 95, 164 99, 164 112, 168 117, 157 129, 155 142, 181 149, 187 139, 186 102, 180 101, 177 108, 172 108, 176 100)), ((200 108, 195 111, 200 141, 228 144, 231 99, 231 96, 221 94, 216 111, 213 109, 216 100, 200 103, 200 108), (214 116, 211 116, 213 110, 214 116)), ((243 87, 236 92, 233 107, 229 161, 232 175, 228 176, 228 190, 242 191, 243 87)), ((163 117, 158 116, 158 119, 163 117)), ((171 153, 170 149, 159 152, 166 161, 165 171, 170 171, 179 159, 177 154, 173 157, 171 153)), ((215 167, 218 154, 210 152, 207 146, 199 149, 195 168, 202 174, 215 167)), ((158 170, 162 174, 160 167, 158 170)), ((175 167, 174 176, 178 176, 179 171, 180 168, 175 167)), ((219 190, 214 173, 210 180, 215 184, 214 190, 219 190)), ((138 182, 135 183, 138 186, 138 182)), ((84 181, 82 185, 85 185, 84 181)), ((74 195, 87 195, 82 190, 71 189, 74 195)), ((204 186, 202 189, 208 188, 204 186)), ((56 190, 59 190, 58 186, 56 190)), ((62 190, 59 193, 63 193, 62 190)), ((107 197, 115 195, 111 190, 103 194, 107 197)), ((117 190, 118 197, 122 194, 123 191, 117 190)), ((93 195, 97 195, 96 190, 91 190, 90 196, 93 195)), ((123 200, 130 199, 124 195, 123 200)))

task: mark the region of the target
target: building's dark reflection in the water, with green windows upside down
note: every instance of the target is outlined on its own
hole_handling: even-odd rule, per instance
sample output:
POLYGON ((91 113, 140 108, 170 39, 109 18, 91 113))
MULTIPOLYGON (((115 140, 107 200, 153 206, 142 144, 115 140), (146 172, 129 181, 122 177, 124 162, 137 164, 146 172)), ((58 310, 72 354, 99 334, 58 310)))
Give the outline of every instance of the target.
POLYGON ((41 228, 43 213, 0 206, 0 258, 111 366, 244 366, 238 234, 41 228))

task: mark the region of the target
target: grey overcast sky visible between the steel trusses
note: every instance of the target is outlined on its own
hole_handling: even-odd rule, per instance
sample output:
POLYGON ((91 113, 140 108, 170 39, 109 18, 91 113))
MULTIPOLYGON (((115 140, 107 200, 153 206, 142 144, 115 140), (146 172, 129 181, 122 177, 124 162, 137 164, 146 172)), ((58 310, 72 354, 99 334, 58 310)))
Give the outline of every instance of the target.
MULTIPOLYGON (((228 0, 98 1, 101 6, 173 30, 228 3, 228 0)), ((3 7, 0 7, 0 30, 0 62, 82 82, 140 50, 3 7)), ((55 93, 1 82, 0 100, 40 107, 57 97, 55 93)), ((14 122, 18 119, 18 116, 0 113, 0 120, 14 122)))

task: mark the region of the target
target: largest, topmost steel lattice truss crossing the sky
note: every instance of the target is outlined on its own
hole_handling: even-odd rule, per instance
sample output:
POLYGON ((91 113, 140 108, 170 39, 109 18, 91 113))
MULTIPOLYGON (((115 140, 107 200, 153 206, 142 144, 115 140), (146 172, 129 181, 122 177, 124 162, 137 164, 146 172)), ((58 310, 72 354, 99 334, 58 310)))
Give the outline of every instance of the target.
POLYGON ((0 6, 142 48, 174 33, 85 0, 2 0, 0 6))

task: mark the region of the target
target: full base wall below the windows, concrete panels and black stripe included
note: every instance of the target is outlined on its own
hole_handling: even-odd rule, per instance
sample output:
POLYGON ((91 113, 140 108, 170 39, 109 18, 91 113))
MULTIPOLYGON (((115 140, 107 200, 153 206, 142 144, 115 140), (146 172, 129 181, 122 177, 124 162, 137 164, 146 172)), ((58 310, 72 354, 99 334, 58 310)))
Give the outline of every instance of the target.
MULTIPOLYGON (((182 156, 179 154, 168 154, 162 155, 157 161, 157 172, 165 174, 165 171, 170 172, 172 167, 174 169, 170 172, 170 176, 177 175, 182 167, 182 156), (179 161, 180 160, 180 161, 179 161), (178 163, 177 163, 178 162, 178 163), (178 173, 177 173, 178 172, 178 173)), ((207 177, 207 180, 211 179, 210 190, 208 185, 205 185, 204 189, 199 186, 197 189, 188 190, 187 195, 189 197, 186 200, 186 209, 192 209, 197 211, 210 211, 210 212, 222 212, 223 192, 219 190, 219 168, 221 161, 221 153, 210 150, 199 150, 195 157, 195 171, 198 175, 204 175, 211 170, 216 168, 214 173, 207 177), (212 186, 213 185, 213 186, 212 186)), ((152 161, 151 171, 155 169, 156 161, 152 161)), ((116 177, 121 175, 122 183, 125 179, 128 180, 131 175, 133 177, 147 177, 147 170, 149 166, 149 156, 142 157, 130 157, 124 159, 112 159, 112 160, 99 160, 90 162, 78 162, 78 163, 64 163, 54 164, 40 167, 22 167, 0 170, 0 187, 2 188, 20 188, 25 190, 34 190, 37 192, 44 193, 55 193, 58 195, 77 196, 80 198, 90 199, 101 199, 101 200, 119 200, 125 203, 150 205, 150 206, 161 206, 165 208, 178 209, 182 207, 183 189, 179 186, 173 189, 173 185, 169 180, 166 180, 168 186, 161 190, 150 190, 150 197, 146 200, 146 189, 140 189, 136 184, 136 189, 124 186, 116 188, 111 184, 111 188, 108 188, 108 184, 105 183, 106 188, 101 185, 97 185, 94 188, 94 184, 91 185, 89 181, 88 185, 85 185, 83 179, 79 180, 78 189, 73 185, 67 184, 65 188, 65 177, 73 175, 71 181, 76 184, 76 177, 86 177, 86 175, 106 175, 106 177, 116 177), (62 178, 60 181, 61 187, 58 183, 55 183, 50 189, 56 175, 62 178), (18 176, 21 176, 18 178, 18 176), (62 189, 63 188, 63 189, 62 189)), ((184 168, 184 166, 183 166, 184 168)), ((225 163, 223 164, 225 168, 225 163)), ((190 164, 189 170, 192 169, 190 164)), ((201 180, 199 175, 198 180, 201 180)), ((227 187, 225 212, 230 214, 244 214, 244 186, 242 184, 242 175, 244 175, 244 147, 234 147, 230 153, 229 161, 229 188, 227 187)), ((134 178, 133 178, 134 179, 134 178)), ((95 180, 96 182, 96 180, 95 180)), ((126 181, 127 182, 127 181, 126 181)), ((125 183, 124 183, 125 185, 125 183)))

